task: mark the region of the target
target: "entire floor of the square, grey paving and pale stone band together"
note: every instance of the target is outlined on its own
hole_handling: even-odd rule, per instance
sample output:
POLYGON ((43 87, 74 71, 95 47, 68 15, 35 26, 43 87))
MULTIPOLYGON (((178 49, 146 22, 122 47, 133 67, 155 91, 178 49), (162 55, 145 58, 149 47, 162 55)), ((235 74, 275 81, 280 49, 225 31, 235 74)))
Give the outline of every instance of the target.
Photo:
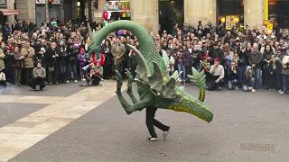
MULTIPOLYGON (((0 111, 4 115, 0 116, 0 161, 5 160, 3 155, 10 155, 6 156, 9 159, 15 156, 11 161, 35 162, 289 160, 287 94, 263 90, 255 94, 208 92, 206 102, 215 114, 210 124, 184 112, 160 110, 156 117, 170 124, 172 130, 167 139, 150 142, 145 139, 148 132, 144 111, 126 115, 117 97, 110 98, 115 83, 106 84, 89 89, 59 85, 58 91, 51 86, 43 93, 29 92, 43 97, 37 103, 23 103, 25 108, 19 106, 19 101, 12 103, 12 98, 7 103, 1 100, 0 111), (50 102, 46 101, 45 93, 54 95, 50 102), (8 110, 10 107, 13 108, 8 110), (11 124, 4 126, 8 123, 11 124), (9 126, 14 131, 23 128, 25 131, 5 139, 5 128, 9 126)), ((195 87, 187 86, 187 91, 198 95, 195 87)), ((17 95, 0 97, 19 98, 17 95)), ((162 137, 161 131, 158 134, 162 137)))

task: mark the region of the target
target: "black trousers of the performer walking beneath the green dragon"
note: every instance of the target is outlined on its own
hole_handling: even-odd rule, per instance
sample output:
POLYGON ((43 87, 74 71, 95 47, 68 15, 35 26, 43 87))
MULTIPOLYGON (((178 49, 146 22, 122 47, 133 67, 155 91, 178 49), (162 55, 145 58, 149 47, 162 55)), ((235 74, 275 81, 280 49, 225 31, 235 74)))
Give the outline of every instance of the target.
POLYGON ((154 130, 154 126, 160 130, 163 130, 163 131, 167 131, 170 129, 170 127, 168 127, 168 126, 164 125, 162 122, 154 119, 154 114, 155 114, 156 110, 157 110, 157 108, 154 108, 154 107, 146 108, 145 124, 146 124, 147 130, 150 132, 152 138, 157 137, 155 130, 154 130))

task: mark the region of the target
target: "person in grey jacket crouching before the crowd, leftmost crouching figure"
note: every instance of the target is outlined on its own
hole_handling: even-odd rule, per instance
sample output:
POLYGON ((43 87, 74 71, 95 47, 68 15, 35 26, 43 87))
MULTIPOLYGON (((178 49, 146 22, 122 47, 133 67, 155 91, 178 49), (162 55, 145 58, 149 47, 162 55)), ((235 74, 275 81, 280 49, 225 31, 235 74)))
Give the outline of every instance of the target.
POLYGON ((45 77, 46 70, 42 67, 42 63, 38 62, 36 67, 33 68, 33 79, 29 84, 33 91, 36 90, 36 85, 39 85, 40 90, 42 91, 43 87, 45 87, 45 77))

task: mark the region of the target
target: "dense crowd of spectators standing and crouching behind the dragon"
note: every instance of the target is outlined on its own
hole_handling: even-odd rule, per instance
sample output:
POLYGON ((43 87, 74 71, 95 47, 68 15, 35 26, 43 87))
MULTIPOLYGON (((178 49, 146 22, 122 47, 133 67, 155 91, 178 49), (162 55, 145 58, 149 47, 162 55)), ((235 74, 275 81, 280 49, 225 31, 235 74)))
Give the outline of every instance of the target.
MULTIPOLYGON (((96 32, 101 28, 101 24, 95 22, 90 26, 96 32)), ((98 81, 99 78, 113 79, 115 69, 124 75, 128 68, 135 76, 135 52, 125 44, 139 49, 139 43, 130 31, 109 34, 103 41, 101 60, 97 61, 87 58, 88 23, 61 24, 53 20, 36 28, 33 23, 15 21, 5 24, 2 31, 0 71, 16 86, 35 81, 43 87, 85 80, 84 69, 88 65, 98 67, 88 72, 90 77, 97 75, 98 81), (32 81, 34 77, 38 79, 32 81)), ((195 67, 205 71, 209 90, 227 87, 255 92, 266 88, 280 94, 289 90, 289 35, 282 29, 267 32, 245 26, 228 31, 221 23, 215 26, 199 22, 196 26, 175 25, 172 33, 160 31, 151 36, 160 55, 164 50, 169 56, 170 73, 182 71, 180 77, 184 85, 190 84, 187 75, 191 75, 191 67, 195 67)))

